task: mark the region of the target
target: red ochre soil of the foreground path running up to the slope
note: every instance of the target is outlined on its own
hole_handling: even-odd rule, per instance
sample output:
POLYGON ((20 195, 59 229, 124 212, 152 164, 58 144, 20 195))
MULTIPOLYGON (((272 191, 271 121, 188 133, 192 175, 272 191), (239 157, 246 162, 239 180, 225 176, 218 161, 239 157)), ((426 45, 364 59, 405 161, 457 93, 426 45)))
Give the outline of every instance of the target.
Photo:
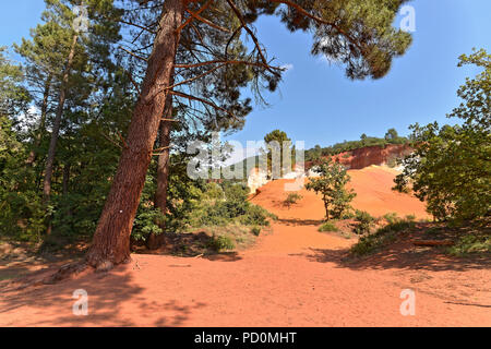
MULTIPOLYGON (((351 172, 359 194, 373 195, 361 194, 356 206, 374 215, 423 216, 417 200, 390 194, 385 173, 351 172)), ((253 200, 282 215, 252 249, 197 258, 133 255, 108 274, 16 291, 3 281, 0 325, 491 326, 489 261, 451 260, 400 243, 343 262, 355 239, 318 232, 322 215, 308 193, 290 210, 277 208, 278 185, 266 185, 253 200), (88 292, 88 316, 72 313, 77 289, 88 292), (400 314, 404 289, 416 292, 414 316, 400 314)))

